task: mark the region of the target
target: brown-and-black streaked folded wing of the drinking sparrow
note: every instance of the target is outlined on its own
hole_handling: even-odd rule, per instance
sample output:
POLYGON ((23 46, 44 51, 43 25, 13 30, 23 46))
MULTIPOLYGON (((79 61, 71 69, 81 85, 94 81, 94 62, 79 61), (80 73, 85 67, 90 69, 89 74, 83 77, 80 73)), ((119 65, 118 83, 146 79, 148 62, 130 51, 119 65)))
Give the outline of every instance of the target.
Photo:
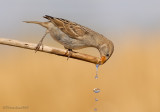
POLYGON ((68 20, 62 18, 54 18, 51 16, 44 16, 44 18, 50 20, 53 24, 55 24, 62 32, 67 34, 69 37, 74 39, 83 39, 84 35, 89 33, 88 28, 81 26, 77 23, 70 22, 68 20))

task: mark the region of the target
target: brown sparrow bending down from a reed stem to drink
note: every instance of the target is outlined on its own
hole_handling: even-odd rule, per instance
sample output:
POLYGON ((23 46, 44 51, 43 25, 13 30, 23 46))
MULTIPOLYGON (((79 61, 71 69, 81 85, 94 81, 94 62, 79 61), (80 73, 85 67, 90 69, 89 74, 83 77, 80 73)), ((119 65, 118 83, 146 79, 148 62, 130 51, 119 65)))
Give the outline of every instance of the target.
POLYGON ((39 50, 45 36, 50 33, 54 40, 62 44, 65 49, 68 49, 67 52, 72 51, 72 49, 74 50, 86 47, 97 48, 101 56, 100 64, 104 64, 111 57, 114 51, 114 45, 112 41, 103 35, 66 19, 55 18, 48 15, 45 15, 44 18, 49 21, 24 21, 26 23, 39 24, 47 29, 45 35, 38 43, 36 51, 39 50))

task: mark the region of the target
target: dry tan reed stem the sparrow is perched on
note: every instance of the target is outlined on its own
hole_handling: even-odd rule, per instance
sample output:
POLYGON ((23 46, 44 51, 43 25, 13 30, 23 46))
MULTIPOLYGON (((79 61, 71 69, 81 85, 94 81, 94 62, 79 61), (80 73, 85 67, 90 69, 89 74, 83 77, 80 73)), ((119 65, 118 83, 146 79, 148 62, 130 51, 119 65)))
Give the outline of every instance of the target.
MULTIPOLYGON (((0 38, 0 44, 14 46, 14 47, 20 47, 20 48, 30 49, 30 50, 35 50, 36 46, 37 46, 37 44, 34 44, 34 43, 21 42, 21 41, 12 40, 12 39, 6 39, 6 38, 0 38)), ((54 48, 54 47, 49 47, 49 46, 42 47, 41 46, 39 51, 68 57, 68 53, 66 54, 66 50, 58 49, 58 48, 54 48)), ((82 61, 86 61, 86 62, 90 62, 90 63, 94 63, 94 64, 100 63, 100 59, 98 57, 94 57, 94 56, 90 56, 90 55, 82 54, 82 53, 78 53, 78 52, 76 52, 76 53, 72 52, 72 55, 70 56, 70 58, 74 58, 74 59, 78 59, 78 60, 82 60, 82 61)))

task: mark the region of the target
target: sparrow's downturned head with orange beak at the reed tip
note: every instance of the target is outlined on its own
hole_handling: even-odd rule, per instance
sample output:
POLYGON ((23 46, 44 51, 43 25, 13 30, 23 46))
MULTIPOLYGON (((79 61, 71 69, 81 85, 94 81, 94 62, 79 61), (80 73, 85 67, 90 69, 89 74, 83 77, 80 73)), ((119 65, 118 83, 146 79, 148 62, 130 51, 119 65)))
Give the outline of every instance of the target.
POLYGON ((104 64, 111 57, 113 51, 114 51, 114 45, 110 40, 100 45, 99 46, 99 52, 101 56, 100 64, 104 64))

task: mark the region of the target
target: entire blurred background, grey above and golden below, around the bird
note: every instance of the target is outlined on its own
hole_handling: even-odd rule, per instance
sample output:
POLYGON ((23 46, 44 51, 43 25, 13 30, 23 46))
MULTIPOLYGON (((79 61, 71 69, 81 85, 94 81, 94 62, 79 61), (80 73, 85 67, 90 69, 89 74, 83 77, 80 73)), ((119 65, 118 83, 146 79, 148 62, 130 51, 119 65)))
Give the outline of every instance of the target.
MULTIPOLYGON (((21 21, 48 14, 100 32, 115 51, 95 80, 94 64, 0 45, 0 112, 160 112, 159 3, 1 0, 0 37, 38 43, 45 29, 21 21), (97 103, 94 88, 101 89, 97 103)), ((49 35, 44 45, 63 49, 49 35)), ((77 51, 99 56, 93 48, 77 51)))

